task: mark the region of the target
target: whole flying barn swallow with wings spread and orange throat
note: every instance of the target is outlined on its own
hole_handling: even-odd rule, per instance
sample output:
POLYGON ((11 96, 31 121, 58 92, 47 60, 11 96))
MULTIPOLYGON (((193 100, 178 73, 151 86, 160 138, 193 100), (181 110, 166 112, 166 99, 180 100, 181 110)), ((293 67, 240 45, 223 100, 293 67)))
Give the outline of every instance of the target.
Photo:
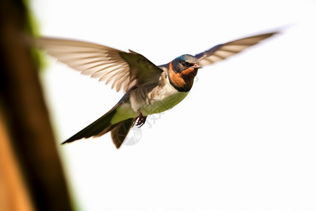
POLYGON ((134 124, 141 127, 147 115, 162 113, 180 103, 190 92, 199 68, 228 58, 276 33, 218 44, 195 56, 184 54, 158 66, 135 51, 120 51, 86 41, 41 37, 35 44, 74 70, 124 92, 110 111, 63 143, 111 132, 112 141, 119 148, 134 124))

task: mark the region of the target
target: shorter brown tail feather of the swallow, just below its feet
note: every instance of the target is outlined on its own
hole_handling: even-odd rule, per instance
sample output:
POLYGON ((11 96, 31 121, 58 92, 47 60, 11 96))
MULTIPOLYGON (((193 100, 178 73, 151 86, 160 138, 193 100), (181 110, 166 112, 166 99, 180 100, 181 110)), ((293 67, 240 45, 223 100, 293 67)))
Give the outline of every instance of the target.
POLYGON ((129 130, 133 127, 133 119, 127 119, 114 124, 111 129, 112 141, 117 148, 124 142, 125 137, 129 134, 129 130))

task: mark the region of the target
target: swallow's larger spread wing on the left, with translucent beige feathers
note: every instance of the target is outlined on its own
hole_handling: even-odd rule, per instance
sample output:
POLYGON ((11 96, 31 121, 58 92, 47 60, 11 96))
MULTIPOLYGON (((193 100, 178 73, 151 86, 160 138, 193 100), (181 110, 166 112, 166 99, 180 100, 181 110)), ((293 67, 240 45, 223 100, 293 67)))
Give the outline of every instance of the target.
POLYGON ((62 63, 81 71, 84 75, 99 78, 112 89, 124 92, 133 86, 157 82, 162 70, 145 56, 134 51, 125 52, 99 44, 70 39, 41 37, 35 46, 62 63))

